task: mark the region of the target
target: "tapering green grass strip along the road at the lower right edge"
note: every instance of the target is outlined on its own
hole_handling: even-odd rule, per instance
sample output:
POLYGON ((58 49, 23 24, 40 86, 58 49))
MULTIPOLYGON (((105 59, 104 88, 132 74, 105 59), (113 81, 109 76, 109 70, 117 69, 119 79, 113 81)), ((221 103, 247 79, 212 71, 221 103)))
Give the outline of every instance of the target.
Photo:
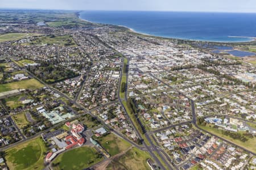
POLYGON ((198 125, 201 129, 204 129, 206 131, 209 131, 210 133, 213 133, 219 137, 225 138, 226 140, 235 143, 238 146, 241 146, 243 148, 246 148, 247 150, 250 150, 256 154, 256 138, 249 138, 248 141, 242 142, 237 139, 233 139, 227 135, 222 134, 222 130, 216 129, 216 128, 211 128, 209 126, 203 126, 203 125, 198 125))

